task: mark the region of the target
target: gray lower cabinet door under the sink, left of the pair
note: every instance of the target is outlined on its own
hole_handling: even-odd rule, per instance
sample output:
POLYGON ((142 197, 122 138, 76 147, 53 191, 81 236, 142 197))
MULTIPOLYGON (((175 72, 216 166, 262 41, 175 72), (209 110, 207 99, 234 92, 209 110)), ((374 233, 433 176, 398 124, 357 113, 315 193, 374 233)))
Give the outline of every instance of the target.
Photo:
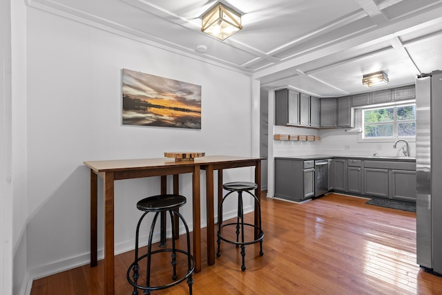
POLYGON ((388 198, 388 169, 364 169, 364 194, 388 198))

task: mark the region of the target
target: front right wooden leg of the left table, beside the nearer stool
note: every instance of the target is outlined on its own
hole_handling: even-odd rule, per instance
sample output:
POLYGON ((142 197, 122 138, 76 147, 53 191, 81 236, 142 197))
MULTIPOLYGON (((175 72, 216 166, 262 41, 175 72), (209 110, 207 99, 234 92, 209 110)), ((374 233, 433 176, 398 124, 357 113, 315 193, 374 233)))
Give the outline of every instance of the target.
POLYGON ((195 272, 201 272, 201 197, 200 166, 195 165, 192 177, 193 187, 193 258, 195 272))

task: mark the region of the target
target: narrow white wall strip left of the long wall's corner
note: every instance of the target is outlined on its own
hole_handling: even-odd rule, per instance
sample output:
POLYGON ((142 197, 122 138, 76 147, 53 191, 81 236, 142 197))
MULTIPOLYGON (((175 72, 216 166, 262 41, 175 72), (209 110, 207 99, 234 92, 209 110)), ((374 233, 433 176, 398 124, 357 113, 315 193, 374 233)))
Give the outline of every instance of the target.
POLYGON ((11 171, 12 184, 12 294, 23 294, 28 280, 26 218, 26 6, 11 1, 11 171))

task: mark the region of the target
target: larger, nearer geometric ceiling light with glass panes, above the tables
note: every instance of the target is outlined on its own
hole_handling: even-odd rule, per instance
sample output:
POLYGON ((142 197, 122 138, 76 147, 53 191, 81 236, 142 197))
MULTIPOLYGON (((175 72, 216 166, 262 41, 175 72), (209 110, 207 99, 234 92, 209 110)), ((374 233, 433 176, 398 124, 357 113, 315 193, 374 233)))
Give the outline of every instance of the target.
POLYGON ((217 3, 202 16, 201 31, 224 40, 242 29, 241 15, 225 6, 217 3))

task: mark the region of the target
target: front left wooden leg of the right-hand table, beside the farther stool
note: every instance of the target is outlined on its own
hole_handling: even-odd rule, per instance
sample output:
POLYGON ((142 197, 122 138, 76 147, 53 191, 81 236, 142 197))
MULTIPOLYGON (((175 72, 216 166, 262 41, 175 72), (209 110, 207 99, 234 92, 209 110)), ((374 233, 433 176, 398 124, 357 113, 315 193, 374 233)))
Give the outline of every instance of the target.
POLYGON ((213 165, 206 167, 207 264, 215 264, 215 215, 213 213, 213 165))

